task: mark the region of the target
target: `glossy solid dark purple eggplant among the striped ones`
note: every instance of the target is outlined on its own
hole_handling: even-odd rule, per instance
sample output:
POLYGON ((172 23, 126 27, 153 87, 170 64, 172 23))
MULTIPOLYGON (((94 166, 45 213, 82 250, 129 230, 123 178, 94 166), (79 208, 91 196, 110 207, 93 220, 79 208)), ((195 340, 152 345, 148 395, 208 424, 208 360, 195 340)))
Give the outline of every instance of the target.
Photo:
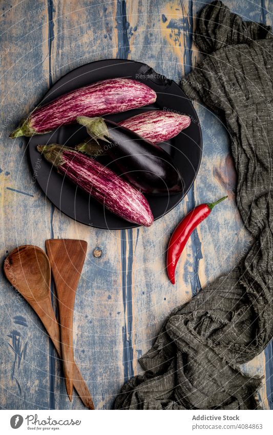
POLYGON ((108 119, 80 116, 77 121, 111 156, 122 175, 143 193, 173 194, 183 190, 171 156, 158 145, 108 119))

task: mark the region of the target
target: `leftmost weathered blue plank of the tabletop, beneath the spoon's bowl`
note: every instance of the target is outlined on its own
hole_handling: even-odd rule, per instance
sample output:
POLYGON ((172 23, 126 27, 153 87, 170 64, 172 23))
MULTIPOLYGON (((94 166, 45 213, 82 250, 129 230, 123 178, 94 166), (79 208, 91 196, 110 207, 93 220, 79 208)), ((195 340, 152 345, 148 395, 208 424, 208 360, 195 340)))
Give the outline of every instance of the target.
MULTIPOLYGON (((25 140, 8 138, 49 86, 47 10, 44 2, 2 2, 2 259, 16 245, 43 247, 48 206, 31 178, 25 140)), ((50 407, 50 346, 47 334, 32 309, 1 277, 0 326, 1 407, 44 409, 50 407)))

